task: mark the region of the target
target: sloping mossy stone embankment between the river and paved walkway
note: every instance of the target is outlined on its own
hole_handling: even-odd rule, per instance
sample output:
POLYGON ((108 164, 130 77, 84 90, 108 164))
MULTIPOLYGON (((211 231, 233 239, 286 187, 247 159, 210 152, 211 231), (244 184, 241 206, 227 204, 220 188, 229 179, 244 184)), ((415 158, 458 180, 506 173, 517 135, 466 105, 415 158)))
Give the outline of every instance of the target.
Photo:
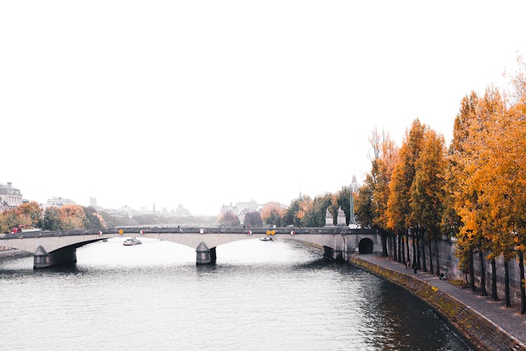
POLYGON ((422 282, 408 274, 388 270, 374 263, 361 260, 358 256, 351 256, 349 263, 403 287, 431 305, 479 350, 526 350, 518 340, 482 314, 472 310, 456 298, 443 293, 431 284, 422 282))

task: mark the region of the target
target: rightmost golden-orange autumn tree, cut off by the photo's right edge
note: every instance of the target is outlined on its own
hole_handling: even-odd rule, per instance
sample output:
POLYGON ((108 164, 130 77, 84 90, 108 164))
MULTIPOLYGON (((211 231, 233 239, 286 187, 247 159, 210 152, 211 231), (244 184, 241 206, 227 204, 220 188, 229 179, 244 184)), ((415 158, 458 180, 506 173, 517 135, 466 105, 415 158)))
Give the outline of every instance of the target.
POLYGON ((489 98, 482 102, 485 111, 490 110, 492 113, 492 119, 487 126, 487 140, 480 151, 480 159, 485 162, 478 170, 478 179, 485 190, 480 194, 480 202, 489 208, 485 214, 488 220, 478 225, 489 227, 485 231, 485 239, 491 241, 491 257, 494 258, 497 253, 504 256, 506 307, 511 305, 508 261, 518 256, 521 313, 525 314, 526 80, 522 71, 511 83, 515 85, 518 95, 508 101, 507 108, 503 107, 505 104, 501 100, 497 100, 500 102, 498 104, 491 104, 496 99, 489 98), (499 227, 499 231, 490 232, 495 227, 499 227))

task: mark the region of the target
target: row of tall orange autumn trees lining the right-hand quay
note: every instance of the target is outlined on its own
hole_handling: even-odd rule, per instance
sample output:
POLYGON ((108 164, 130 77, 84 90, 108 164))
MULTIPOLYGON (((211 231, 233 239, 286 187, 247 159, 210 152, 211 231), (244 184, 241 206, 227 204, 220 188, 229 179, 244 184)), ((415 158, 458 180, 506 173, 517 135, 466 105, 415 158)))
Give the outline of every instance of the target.
POLYGON ((409 258, 409 237, 414 235, 413 265, 428 271, 429 249, 432 273, 433 260, 439 267, 438 249, 433 253, 432 246, 438 248, 442 236, 454 237, 459 264, 469 272, 473 291, 478 252, 483 296, 488 294, 484 262, 490 261, 493 300, 498 300, 495 258, 504 256, 506 307, 511 307, 508 262, 518 258, 524 314, 526 65, 521 58, 518 67, 509 92, 490 86, 483 95, 472 92, 461 100, 449 147, 418 119, 400 147, 389 133, 373 131, 374 157, 356 199, 356 218, 382 234, 384 255, 389 240, 396 248, 393 258, 400 262, 409 258))

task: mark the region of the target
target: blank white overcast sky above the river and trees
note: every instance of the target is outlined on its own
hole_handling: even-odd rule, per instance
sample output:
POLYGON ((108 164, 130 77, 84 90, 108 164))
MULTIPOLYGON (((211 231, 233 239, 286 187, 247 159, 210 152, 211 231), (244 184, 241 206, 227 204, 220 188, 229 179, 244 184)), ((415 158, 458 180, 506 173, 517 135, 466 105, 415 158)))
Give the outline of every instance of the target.
POLYGON ((0 0, 0 183, 29 200, 290 204, 370 170, 373 128, 447 142, 526 55, 526 1, 0 0))

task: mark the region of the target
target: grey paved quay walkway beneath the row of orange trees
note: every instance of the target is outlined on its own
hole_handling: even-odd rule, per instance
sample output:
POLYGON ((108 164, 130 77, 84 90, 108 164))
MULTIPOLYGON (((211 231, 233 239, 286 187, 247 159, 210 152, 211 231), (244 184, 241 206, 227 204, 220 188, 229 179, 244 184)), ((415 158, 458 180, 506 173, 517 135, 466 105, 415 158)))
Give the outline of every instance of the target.
POLYGON ((447 293, 461 303, 471 307, 472 310, 482 314, 485 318, 526 345, 526 314, 520 314, 520 305, 515 305, 512 308, 504 307, 504 296, 499 296, 500 301, 492 301, 489 296, 480 296, 478 292, 473 292, 471 289, 463 289, 447 282, 447 280, 440 280, 434 274, 422 271, 414 274, 412 269, 406 270, 405 265, 393 261, 391 257, 369 254, 360 255, 359 258, 386 269, 410 275, 422 282, 436 286, 436 288, 443 291, 443 293, 447 293))

